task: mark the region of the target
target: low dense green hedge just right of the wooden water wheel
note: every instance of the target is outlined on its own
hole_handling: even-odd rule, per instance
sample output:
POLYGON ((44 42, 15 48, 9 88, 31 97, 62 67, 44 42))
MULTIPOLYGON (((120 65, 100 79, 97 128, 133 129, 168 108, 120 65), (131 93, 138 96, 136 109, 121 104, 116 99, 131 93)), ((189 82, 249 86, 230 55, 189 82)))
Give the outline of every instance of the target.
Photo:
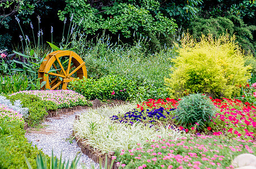
POLYGON ((119 75, 107 75, 99 79, 79 79, 72 81, 68 88, 82 94, 89 100, 120 99, 144 101, 152 97, 167 97, 165 88, 146 86, 136 80, 119 75))

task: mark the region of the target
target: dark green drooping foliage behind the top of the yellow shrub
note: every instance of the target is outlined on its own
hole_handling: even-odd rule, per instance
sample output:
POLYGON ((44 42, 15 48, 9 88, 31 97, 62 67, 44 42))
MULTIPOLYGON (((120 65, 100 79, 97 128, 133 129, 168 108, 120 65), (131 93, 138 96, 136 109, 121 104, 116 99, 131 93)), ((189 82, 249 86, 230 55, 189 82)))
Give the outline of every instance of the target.
POLYGON ((235 15, 210 19, 199 18, 190 23, 189 32, 198 41, 202 34, 211 33, 214 37, 219 37, 223 33, 235 34, 236 41, 246 51, 255 56, 256 43, 253 33, 256 30, 255 25, 246 25, 240 17, 235 15))

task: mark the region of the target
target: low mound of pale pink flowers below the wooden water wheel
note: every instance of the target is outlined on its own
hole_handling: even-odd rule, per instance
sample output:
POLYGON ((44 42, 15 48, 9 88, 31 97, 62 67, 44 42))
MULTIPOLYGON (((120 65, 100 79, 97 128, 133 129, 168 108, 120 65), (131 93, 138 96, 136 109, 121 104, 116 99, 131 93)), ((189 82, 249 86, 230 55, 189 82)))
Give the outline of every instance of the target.
POLYGON ((78 94, 72 90, 31 90, 31 91, 20 91, 16 94, 31 94, 40 97, 40 99, 45 101, 52 101, 55 103, 58 108, 70 108, 73 106, 85 106, 88 105, 85 97, 81 94, 78 94))

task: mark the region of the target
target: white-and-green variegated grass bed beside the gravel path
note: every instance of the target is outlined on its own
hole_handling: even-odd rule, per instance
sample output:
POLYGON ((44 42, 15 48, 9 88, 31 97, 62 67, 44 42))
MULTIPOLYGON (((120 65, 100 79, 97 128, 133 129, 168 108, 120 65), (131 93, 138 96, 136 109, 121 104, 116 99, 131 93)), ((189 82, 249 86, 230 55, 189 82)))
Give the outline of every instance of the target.
POLYGON ((102 153, 118 150, 129 150, 140 144, 143 147, 146 140, 171 139, 186 136, 184 132, 172 130, 168 126, 150 127, 142 123, 135 123, 129 126, 125 123, 111 121, 108 115, 117 114, 124 105, 115 108, 90 109, 75 121, 73 130, 76 136, 83 140, 83 143, 100 150, 102 153), (160 138, 159 138, 160 137, 160 138))

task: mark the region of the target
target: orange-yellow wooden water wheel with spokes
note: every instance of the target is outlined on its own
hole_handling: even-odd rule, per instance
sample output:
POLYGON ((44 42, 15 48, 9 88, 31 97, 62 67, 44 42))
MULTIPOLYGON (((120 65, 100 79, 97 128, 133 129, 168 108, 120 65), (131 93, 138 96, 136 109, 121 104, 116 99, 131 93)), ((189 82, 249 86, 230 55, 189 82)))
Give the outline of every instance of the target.
POLYGON ((54 51, 45 57, 40 65, 38 78, 45 83, 42 89, 67 89, 68 82, 73 79, 87 78, 84 61, 72 51, 54 51))

